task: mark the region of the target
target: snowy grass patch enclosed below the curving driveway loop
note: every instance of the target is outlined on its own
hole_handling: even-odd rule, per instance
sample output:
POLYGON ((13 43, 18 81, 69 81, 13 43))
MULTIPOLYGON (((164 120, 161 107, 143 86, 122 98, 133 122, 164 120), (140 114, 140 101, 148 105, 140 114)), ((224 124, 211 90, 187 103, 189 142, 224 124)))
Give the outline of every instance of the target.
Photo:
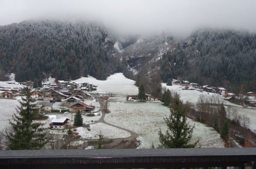
POLYGON ((100 132, 104 135, 105 138, 126 138, 130 137, 130 133, 123 131, 121 129, 117 129, 113 126, 104 124, 104 123, 96 123, 90 125, 90 131, 88 131, 86 128, 80 127, 76 128, 76 132, 79 133, 83 138, 87 139, 99 139, 99 136, 97 134, 100 134, 100 132))

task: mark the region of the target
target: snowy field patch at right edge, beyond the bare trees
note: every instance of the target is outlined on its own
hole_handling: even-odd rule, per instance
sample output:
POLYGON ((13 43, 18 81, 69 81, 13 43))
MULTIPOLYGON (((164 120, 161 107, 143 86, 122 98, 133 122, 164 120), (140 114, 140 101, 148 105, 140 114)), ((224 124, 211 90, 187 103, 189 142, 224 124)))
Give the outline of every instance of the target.
MULTIPOLYGON (((256 133, 256 108, 243 108, 243 107, 230 107, 228 108, 232 112, 237 110, 238 114, 245 114, 250 118, 249 128, 253 133, 256 133)), ((227 111, 227 108, 226 108, 227 111)))

